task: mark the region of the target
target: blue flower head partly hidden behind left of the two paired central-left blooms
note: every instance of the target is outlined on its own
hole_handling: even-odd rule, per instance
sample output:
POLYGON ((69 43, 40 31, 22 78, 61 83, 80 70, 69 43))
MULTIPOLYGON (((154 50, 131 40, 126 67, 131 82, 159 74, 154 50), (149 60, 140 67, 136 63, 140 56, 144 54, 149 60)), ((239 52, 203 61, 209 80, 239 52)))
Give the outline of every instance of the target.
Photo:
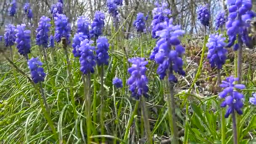
POLYGON ((79 51, 79 48, 80 48, 81 42, 85 39, 87 39, 87 37, 82 32, 79 32, 74 35, 72 47, 74 48, 73 54, 75 57, 81 56, 81 54, 80 54, 81 52, 79 51))

